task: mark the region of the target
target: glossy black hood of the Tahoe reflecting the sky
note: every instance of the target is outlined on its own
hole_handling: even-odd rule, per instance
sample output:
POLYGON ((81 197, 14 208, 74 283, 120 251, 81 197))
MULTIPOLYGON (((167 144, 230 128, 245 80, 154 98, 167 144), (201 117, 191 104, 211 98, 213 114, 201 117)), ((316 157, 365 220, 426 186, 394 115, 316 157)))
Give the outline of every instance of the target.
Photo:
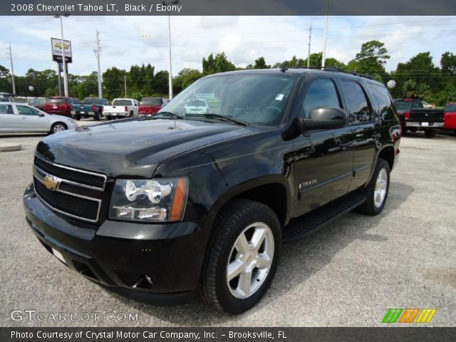
POLYGON ((38 143, 36 152, 52 162, 108 177, 151 177, 170 157, 256 130, 196 120, 135 118, 49 135, 38 143))

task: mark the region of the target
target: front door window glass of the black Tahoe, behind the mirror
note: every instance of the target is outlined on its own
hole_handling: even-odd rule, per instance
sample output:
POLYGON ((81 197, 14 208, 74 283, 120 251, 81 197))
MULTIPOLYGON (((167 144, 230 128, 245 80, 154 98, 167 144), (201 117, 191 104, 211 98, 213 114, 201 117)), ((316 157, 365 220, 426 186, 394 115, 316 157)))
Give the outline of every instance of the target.
POLYGON ((302 104, 301 116, 309 118, 311 110, 321 107, 341 108, 336 86, 328 78, 318 78, 311 83, 302 104))

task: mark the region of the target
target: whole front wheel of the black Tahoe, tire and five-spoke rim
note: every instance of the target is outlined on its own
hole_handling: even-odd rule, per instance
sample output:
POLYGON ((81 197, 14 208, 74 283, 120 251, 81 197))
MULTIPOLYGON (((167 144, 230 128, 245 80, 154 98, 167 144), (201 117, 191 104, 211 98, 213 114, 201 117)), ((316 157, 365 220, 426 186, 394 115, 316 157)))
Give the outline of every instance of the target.
POLYGON ((266 205, 235 199, 222 209, 202 272, 202 294, 215 309, 241 314, 264 296, 279 263, 281 228, 266 205))

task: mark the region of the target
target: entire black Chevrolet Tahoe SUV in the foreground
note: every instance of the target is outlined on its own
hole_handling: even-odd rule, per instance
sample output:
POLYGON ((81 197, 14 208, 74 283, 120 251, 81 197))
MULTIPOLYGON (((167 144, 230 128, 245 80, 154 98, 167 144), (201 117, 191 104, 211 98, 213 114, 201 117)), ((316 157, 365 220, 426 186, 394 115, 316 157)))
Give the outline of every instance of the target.
POLYGON ((393 100, 367 76, 219 73, 152 118, 41 140, 26 221, 63 264, 118 294, 200 294, 239 314, 264 296, 284 243, 353 209, 382 211, 399 141, 393 100), (195 100, 207 105, 189 110, 195 100))

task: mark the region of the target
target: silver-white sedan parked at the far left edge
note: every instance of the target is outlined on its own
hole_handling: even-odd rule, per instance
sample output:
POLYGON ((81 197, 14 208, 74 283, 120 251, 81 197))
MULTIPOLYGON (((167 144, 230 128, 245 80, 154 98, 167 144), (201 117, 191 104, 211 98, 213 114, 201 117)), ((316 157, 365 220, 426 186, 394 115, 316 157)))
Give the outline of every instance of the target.
POLYGON ((75 120, 44 113, 26 103, 0 102, 0 132, 58 133, 78 127, 75 120))

